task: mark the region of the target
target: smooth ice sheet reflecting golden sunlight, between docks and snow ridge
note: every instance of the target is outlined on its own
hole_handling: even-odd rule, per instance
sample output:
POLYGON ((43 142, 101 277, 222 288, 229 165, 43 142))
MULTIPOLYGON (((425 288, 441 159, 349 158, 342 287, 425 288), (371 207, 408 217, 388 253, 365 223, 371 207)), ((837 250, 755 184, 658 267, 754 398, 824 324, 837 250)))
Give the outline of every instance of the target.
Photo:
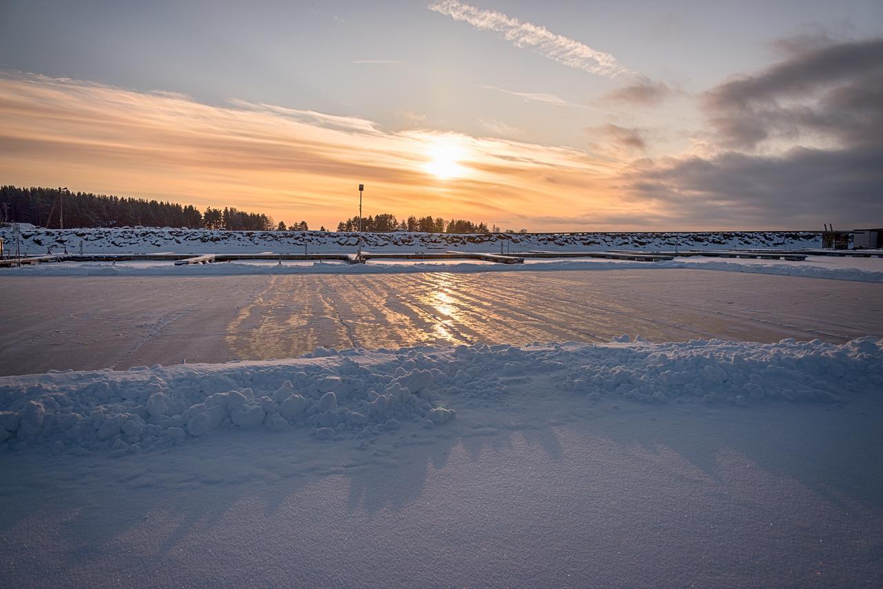
POLYGON ((3 276, 0 374, 297 357, 319 346, 883 334, 883 284, 689 269, 3 276))

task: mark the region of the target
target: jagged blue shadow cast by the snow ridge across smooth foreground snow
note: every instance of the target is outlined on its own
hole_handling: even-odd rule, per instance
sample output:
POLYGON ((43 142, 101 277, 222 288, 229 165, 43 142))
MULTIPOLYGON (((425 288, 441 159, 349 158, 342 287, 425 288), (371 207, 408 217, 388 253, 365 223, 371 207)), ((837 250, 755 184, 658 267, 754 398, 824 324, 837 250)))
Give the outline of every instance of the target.
MULTIPOLYGON (((64 546, 73 547, 67 565, 82 566, 99 561, 118 537, 162 514, 164 521, 175 524, 155 553, 144 555, 147 563, 159 566, 193 532, 222 525, 244 499, 262 505, 264 515, 274 515, 306 487, 340 477, 348 483, 348 512, 397 511, 419 499, 427 475, 449 464, 455 449, 476 461, 512 449, 518 436, 519 448, 537 449, 558 462, 565 454, 562 429, 600 437, 623 450, 675 452, 713 480, 721 480, 721 455, 736 452, 766 472, 799 481, 828 502, 880 510, 883 459, 875 451, 883 443, 879 397, 865 397, 861 411, 850 404, 699 409, 622 401, 615 409, 591 404, 576 393, 559 394, 570 409, 566 419, 538 411, 513 423, 503 410, 495 421, 475 424, 464 414, 449 426, 422 430, 415 425, 381 435, 365 450, 351 442, 320 442, 292 429, 219 432, 193 442, 196 448, 175 447, 116 461, 7 454, 0 457, 0 468, 10 483, 0 489, 0 499, 10 508, 0 511, 0 531, 11 532, 32 517, 56 518, 62 522, 64 546), (79 477, 72 477, 73 472, 79 477)), ((287 525, 296 528, 298 521, 287 525)))

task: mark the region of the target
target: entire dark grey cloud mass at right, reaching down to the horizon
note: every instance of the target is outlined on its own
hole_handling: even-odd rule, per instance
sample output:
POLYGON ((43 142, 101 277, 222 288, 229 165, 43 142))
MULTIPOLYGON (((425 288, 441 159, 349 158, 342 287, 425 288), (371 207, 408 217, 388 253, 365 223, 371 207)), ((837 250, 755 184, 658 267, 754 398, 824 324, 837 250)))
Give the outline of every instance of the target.
POLYGON ((883 220, 883 40, 789 42, 789 58, 703 102, 721 151, 633 170, 632 198, 710 228, 883 220))

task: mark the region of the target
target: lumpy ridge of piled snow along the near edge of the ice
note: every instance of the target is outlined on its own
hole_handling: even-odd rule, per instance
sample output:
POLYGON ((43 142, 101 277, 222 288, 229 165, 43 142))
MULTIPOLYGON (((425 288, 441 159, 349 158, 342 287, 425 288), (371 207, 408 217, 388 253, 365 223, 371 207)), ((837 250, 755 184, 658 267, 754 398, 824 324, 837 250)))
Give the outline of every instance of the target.
POLYGON ((883 392, 883 340, 779 344, 693 340, 606 345, 476 344, 398 351, 317 349, 223 365, 135 366, 0 378, 0 449, 111 457, 187 443, 219 427, 310 428, 360 447, 400 427, 444 427, 457 408, 511 395, 587 402, 847 401, 883 392))

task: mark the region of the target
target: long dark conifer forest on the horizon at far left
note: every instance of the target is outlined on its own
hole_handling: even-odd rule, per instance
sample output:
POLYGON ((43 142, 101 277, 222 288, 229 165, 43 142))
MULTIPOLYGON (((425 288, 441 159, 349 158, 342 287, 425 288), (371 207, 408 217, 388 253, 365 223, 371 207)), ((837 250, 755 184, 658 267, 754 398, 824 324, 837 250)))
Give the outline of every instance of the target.
MULTIPOLYGON (((64 188, 0 186, 0 222, 40 227, 186 227, 188 229, 272 230, 273 219, 238 208, 206 208, 161 200, 134 199, 64 188)), ((282 225, 284 223, 281 223, 282 225)), ((298 224, 306 229, 306 223, 298 224)), ((293 226, 292 226, 293 228, 293 226)))

